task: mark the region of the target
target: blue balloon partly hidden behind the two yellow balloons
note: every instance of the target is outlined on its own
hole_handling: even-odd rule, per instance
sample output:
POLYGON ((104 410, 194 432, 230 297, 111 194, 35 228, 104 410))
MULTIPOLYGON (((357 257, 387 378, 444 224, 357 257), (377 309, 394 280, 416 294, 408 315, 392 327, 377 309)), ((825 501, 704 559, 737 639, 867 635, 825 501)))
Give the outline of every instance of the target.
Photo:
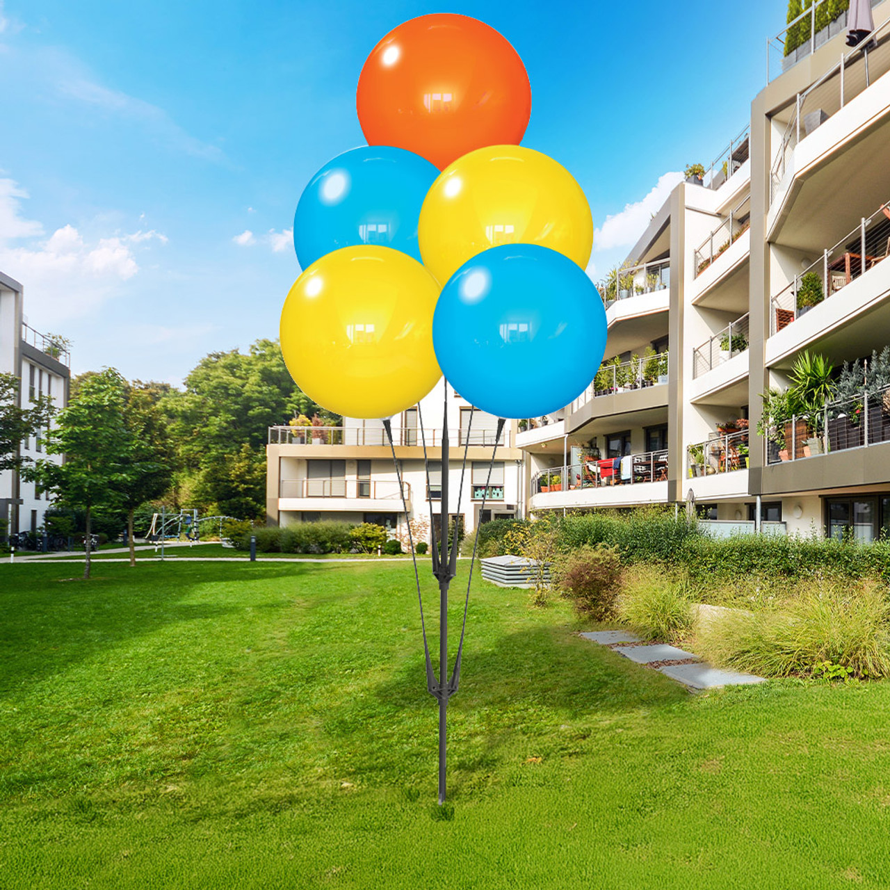
POLYGON ((412 151, 366 145, 323 166, 294 215, 294 248, 303 269, 341 247, 379 244, 420 262, 417 219, 439 170, 412 151))

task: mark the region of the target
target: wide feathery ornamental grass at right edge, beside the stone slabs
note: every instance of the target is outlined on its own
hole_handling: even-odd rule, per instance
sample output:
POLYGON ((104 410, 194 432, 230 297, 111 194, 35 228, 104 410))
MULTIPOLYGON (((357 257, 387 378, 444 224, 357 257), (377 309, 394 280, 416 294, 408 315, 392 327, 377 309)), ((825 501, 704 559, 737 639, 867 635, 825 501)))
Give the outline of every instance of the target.
POLYGON ((813 584, 774 611, 740 612, 700 631, 700 652, 759 676, 890 676, 890 603, 873 583, 813 584))

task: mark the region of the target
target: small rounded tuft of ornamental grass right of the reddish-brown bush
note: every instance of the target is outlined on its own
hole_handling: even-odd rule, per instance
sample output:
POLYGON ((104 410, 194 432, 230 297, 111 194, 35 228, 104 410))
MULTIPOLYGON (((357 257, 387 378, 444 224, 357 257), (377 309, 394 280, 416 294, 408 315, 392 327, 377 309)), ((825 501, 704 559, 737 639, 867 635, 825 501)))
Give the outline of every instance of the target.
POLYGON ((683 581, 663 573, 637 572, 618 604, 619 617, 646 640, 676 642, 692 630, 692 597, 683 581))

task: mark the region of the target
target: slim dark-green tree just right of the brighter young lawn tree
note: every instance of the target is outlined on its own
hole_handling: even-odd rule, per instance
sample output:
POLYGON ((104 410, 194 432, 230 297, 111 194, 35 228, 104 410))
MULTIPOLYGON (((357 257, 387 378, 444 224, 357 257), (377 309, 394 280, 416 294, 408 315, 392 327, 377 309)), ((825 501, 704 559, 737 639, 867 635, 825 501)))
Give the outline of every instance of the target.
POLYGON ((126 510, 126 539, 130 565, 136 564, 133 516, 147 500, 160 498, 170 487, 175 461, 174 447, 159 404, 170 392, 169 384, 141 380, 125 387, 124 425, 127 462, 120 480, 121 504, 126 510))

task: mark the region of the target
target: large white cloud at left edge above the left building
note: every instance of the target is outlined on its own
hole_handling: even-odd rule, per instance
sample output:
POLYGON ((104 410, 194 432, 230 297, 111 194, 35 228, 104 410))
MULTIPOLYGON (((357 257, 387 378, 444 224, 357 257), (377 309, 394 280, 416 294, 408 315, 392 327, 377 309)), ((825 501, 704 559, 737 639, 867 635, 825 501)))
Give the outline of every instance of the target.
POLYGON ((0 269, 25 285, 28 315, 35 319, 54 324, 88 315, 120 295, 139 271, 137 246, 167 240, 154 230, 85 238, 70 223, 38 240, 44 226, 20 213, 26 197, 16 182, 0 180, 0 269), (21 240, 27 243, 13 243, 21 240))

